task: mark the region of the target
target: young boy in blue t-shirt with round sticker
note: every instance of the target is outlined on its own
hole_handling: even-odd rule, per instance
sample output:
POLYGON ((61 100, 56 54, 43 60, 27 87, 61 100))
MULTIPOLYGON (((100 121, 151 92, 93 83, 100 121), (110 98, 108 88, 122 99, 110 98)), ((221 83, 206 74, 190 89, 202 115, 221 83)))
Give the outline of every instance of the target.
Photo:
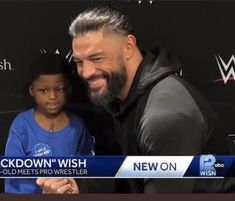
MULTIPOLYGON (((73 156, 94 153, 83 121, 65 111, 70 69, 56 54, 43 54, 30 68, 29 93, 36 106, 14 119, 6 156, 73 156)), ((41 193, 36 179, 5 179, 5 193, 41 193)))

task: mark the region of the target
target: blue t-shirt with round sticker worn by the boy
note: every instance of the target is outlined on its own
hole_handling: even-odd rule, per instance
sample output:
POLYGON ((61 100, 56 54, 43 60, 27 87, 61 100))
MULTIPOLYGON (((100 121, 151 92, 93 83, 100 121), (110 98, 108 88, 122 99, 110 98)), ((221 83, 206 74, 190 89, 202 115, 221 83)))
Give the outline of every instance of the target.
MULTIPOLYGON (((94 155, 91 136, 83 121, 69 113, 69 123, 60 131, 49 132, 34 119, 34 109, 17 115, 7 139, 5 156, 94 155)), ((41 193, 36 179, 5 179, 5 193, 41 193)))

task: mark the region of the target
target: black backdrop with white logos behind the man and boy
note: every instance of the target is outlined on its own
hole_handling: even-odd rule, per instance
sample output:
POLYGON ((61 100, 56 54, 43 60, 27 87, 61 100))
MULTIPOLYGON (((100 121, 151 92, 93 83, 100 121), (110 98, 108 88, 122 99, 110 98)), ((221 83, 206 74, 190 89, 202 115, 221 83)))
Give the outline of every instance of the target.
MULTIPOLYGON (((128 14, 140 49, 159 46, 176 54, 182 75, 221 117, 235 153, 235 2, 9 0, 0 2, 0 154, 4 154, 12 119, 29 107, 26 82, 32 58, 40 52, 54 52, 71 59, 70 22, 82 10, 97 5, 128 14)), ((97 146, 103 147, 102 142, 111 146, 104 134, 112 128, 102 130, 109 116, 91 106, 76 72, 71 105, 87 120, 91 132, 102 131, 96 133, 97 146)), ((102 154, 106 151, 100 149, 102 154)))

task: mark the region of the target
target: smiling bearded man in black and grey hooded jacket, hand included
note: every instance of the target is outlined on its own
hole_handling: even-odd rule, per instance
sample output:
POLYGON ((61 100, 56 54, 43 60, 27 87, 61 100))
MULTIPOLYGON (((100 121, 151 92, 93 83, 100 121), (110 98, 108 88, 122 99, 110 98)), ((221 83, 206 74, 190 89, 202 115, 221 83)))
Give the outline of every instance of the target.
MULTIPOLYGON (((141 53, 125 15, 82 12, 70 26, 73 58, 90 99, 115 118, 123 155, 228 154, 214 113, 166 50, 141 53), (219 144, 217 144, 219 143, 219 144)), ((133 193, 225 192, 224 180, 128 180, 133 193)), ((78 193, 73 179, 38 179, 45 193, 78 193)), ((79 180, 78 180, 79 185, 79 180)))

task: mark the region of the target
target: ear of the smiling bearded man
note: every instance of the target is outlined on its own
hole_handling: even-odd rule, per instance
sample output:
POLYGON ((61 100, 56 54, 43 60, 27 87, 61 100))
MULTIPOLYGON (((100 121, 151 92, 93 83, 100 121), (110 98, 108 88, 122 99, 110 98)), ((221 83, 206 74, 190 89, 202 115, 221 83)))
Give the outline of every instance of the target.
POLYGON ((128 35, 125 39, 124 55, 127 60, 131 59, 136 49, 136 38, 133 35, 128 35))

